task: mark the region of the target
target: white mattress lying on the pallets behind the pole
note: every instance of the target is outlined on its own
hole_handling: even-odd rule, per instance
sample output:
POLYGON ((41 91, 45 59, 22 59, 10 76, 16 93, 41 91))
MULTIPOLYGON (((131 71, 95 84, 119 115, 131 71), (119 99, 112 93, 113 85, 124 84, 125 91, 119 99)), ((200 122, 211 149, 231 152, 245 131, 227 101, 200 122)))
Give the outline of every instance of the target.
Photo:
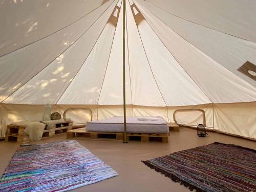
MULTIPOLYGON (((123 117, 113 117, 86 124, 90 132, 123 132, 123 117)), ((127 133, 168 133, 167 122, 162 117, 126 117, 127 133)))

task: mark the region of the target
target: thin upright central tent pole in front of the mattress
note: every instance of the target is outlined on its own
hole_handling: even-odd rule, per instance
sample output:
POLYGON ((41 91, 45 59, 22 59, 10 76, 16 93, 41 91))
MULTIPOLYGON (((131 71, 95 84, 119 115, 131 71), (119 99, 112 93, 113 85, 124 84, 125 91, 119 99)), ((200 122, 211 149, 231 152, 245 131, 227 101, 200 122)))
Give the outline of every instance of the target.
POLYGON ((126 141, 126 105, 125 105, 125 0, 123 0, 123 143, 126 141))

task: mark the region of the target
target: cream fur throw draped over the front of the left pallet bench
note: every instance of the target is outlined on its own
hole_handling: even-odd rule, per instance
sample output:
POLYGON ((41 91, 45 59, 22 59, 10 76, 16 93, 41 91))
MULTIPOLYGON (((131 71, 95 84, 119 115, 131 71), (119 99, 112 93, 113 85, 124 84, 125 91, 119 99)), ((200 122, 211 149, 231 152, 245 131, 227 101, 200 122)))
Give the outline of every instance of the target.
POLYGON ((46 125, 35 121, 20 121, 13 123, 18 126, 27 126, 24 132, 29 135, 30 141, 39 141, 42 138, 46 125))

